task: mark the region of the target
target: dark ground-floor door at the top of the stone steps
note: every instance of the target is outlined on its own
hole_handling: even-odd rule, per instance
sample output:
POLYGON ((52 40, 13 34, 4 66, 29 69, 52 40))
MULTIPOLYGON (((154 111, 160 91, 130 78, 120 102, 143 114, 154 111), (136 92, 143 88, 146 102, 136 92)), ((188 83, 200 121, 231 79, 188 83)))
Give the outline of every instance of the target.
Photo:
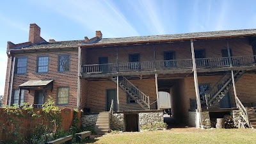
POLYGON ((116 90, 106 90, 106 111, 109 111, 111 106, 111 100, 114 104, 114 111, 117 110, 117 102, 116 102, 116 90))

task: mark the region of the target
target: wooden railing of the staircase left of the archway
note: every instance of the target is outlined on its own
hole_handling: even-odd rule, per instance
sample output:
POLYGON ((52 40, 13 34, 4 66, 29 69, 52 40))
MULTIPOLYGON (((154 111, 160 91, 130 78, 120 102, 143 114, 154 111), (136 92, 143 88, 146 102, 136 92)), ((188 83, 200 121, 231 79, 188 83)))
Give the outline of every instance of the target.
POLYGON ((134 84, 132 84, 128 79, 125 77, 122 77, 120 79, 122 81, 122 84, 124 84, 129 90, 131 90, 134 95, 136 95, 139 99, 141 99, 147 106, 148 109, 150 109, 150 101, 149 97, 145 95, 143 92, 141 92, 134 84))

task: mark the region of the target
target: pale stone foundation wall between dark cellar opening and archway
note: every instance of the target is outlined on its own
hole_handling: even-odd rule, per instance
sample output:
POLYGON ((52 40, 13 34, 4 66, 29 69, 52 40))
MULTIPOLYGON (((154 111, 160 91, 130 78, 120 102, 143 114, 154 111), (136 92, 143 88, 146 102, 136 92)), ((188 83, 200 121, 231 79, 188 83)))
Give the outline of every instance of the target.
POLYGON ((163 112, 158 113, 139 113, 140 128, 148 123, 164 122, 163 112))

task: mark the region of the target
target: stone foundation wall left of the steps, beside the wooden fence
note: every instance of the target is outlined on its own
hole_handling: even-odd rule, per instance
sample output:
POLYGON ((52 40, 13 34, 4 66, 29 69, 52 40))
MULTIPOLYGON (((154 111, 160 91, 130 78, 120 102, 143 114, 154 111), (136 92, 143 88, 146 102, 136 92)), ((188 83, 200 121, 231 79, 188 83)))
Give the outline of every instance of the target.
POLYGON ((97 118, 98 118, 98 114, 82 115, 81 116, 82 126, 83 127, 95 127, 97 118))

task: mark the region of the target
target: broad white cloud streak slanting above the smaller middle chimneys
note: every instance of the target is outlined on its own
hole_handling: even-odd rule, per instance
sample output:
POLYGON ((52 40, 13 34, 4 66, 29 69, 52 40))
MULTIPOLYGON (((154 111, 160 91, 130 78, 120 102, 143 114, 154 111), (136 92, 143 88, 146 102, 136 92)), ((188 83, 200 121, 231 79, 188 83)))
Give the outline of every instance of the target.
POLYGON ((84 29, 101 30, 104 37, 138 36, 139 33, 113 4, 107 1, 31 1, 82 25, 84 29))

